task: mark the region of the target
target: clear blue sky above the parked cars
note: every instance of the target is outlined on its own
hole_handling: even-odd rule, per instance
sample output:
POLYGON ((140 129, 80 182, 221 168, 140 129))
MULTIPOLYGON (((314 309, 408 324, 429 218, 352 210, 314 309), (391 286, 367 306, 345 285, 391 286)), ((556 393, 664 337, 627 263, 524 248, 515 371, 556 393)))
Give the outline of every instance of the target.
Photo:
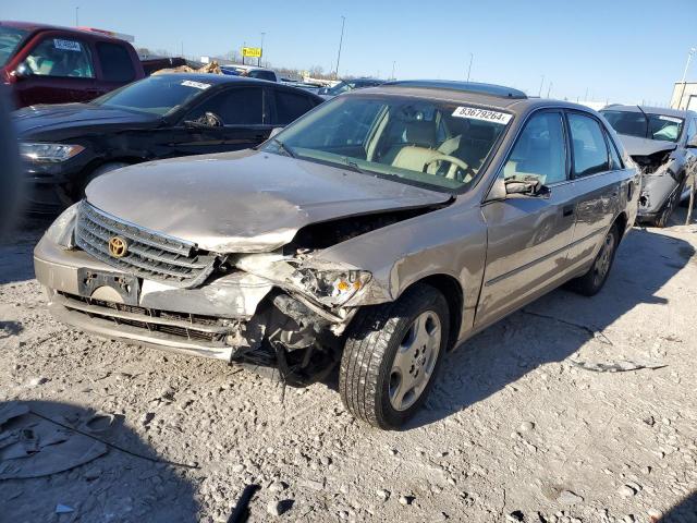
MULTIPOLYGON (((575 100, 665 105, 697 46, 697 0, 430 0, 340 2, 0 0, 4 20, 80 23, 134 35, 136 46, 218 54, 258 45, 272 64, 340 74, 472 78, 575 100)), ((697 56, 688 80, 697 81, 697 56)))

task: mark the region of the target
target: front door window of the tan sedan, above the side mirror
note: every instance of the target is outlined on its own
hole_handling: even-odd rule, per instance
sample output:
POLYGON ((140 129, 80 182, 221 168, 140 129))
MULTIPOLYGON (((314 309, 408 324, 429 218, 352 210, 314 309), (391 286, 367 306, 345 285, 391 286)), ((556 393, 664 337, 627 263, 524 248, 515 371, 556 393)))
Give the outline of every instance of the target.
POLYGON ((542 112, 525 124, 503 168, 506 180, 535 178, 545 185, 566 180, 566 139, 559 112, 542 112))

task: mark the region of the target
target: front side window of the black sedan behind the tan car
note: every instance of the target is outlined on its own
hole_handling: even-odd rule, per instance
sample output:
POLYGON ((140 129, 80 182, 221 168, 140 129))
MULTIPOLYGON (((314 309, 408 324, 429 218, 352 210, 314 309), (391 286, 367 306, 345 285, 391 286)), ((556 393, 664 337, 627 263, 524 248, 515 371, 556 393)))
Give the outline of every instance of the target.
POLYGON ((187 120, 197 120, 212 112, 223 125, 257 125, 264 123, 264 89, 241 87, 225 89, 192 111, 187 120))

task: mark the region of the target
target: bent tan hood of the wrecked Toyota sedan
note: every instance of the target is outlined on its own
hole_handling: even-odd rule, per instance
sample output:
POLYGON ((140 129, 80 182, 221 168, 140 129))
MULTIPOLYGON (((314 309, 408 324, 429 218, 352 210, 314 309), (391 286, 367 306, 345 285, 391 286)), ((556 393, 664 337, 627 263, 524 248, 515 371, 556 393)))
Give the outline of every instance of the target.
POLYGON ((245 150, 101 175, 87 200, 122 220, 219 253, 270 252, 309 223, 444 203, 449 194, 245 150))

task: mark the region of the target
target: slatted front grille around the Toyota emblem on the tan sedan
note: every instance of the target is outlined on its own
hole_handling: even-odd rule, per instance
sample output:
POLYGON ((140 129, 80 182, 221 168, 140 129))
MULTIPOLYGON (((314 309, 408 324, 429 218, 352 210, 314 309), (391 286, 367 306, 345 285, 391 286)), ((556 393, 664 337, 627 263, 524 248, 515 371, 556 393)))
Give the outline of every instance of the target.
POLYGON ((203 283, 218 260, 217 256, 199 254, 193 243, 125 222, 85 200, 77 212, 75 243, 124 272, 179 288, 203 283), (110 252, 109 243, 114 238, 125 243, 121 257, 110 252))

